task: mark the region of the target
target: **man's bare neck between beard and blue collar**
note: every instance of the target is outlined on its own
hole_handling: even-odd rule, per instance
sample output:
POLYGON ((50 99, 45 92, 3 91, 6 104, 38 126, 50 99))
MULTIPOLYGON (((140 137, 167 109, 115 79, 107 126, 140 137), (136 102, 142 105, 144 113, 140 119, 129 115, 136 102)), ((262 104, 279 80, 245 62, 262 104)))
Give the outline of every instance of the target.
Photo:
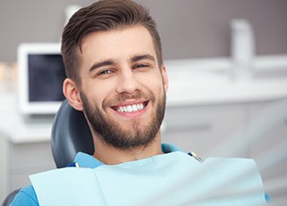
POLYGON ((126 161, 145 159, 162 154, 160 132, 156 135, 154 141, 149 145, 133 148, 130 150, 117 149, 105 142, 102 142, 100 138, 95 136, 93 137, 93 140, 94 145, 97 145, 93 153, 93 157, 99 159, 106 165, 116 165, 126 161))

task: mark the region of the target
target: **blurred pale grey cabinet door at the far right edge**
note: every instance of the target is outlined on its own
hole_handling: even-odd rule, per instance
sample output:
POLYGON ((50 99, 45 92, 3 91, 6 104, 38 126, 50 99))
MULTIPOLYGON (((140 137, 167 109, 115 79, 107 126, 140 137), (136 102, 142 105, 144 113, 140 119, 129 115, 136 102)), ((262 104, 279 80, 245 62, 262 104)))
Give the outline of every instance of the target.
POLYGON ((251 157, 257 161, 274 205, 286 205, 287 99, 250 104, 249 116, 251 157))

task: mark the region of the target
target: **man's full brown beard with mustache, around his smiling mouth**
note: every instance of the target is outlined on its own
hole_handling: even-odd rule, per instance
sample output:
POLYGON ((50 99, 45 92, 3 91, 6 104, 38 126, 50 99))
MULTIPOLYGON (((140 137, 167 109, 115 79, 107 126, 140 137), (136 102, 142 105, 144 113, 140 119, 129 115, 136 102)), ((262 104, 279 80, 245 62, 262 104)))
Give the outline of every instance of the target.
MULTIPOLYGON (((109 116, 105 116, 98 107, 93 107, 91 102, 86 98, 83 92, 80 93, 83 101, 83 111, 90 122, 92 129, 95 133, 100 134, 99 137, 103 142, 120 149, 131 150, 141 146, 147 146, 152 143, 156 134, 161 128, 161 123, 165 113, 166 94, 164 91, 163 96, 159 99, 156 106, 155 113, 152 113, 152 120, 143 128, 140 127, 138 122, 135 122, 130 130, 124 130, 120 124, 114 121, 109 116)), ((149 104, 155 104, 154 95, 149 92, 146 97, 141 91, 137 91, 135 95, 120 94, 115 101, 125 99, 149 99, 149 104)), ((112 102, 103 102, 103 106, 111 106, 112 102)), ((95 145, 96 147, 97 145, 95 145)), ((96 149, 95 149, 96 150, 96 149)))

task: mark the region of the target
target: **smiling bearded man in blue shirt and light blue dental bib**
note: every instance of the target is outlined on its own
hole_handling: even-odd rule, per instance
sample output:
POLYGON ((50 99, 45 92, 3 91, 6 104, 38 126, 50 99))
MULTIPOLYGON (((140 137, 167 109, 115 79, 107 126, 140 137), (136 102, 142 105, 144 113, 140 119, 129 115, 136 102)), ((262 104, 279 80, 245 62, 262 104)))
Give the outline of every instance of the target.
MULTIPOLYGON (((240 182, 223 180, 226 171, 242 164, 250 167, 252 162, 213 159, 201 163, 175 146, 161 145, 169 81, 155 22, 141 5, 106 0, 81 9, 65 26, 62 56, 65 98, 83 111, 95 151, 93 156, 77 154, 75 165, 80 168, 31 176, 32 185, 17 194, 13 205, 265 202, 257 175, 248 179, 250 184, 243 190, 242 173, 230 174, 240 182), (225 172, 222 167, 219 172, 209 171, 218 165, 225 172), (218 179, 224 182, 222 187, 218 179)), ((253 174, 254 170, 247 171, 253 174)))

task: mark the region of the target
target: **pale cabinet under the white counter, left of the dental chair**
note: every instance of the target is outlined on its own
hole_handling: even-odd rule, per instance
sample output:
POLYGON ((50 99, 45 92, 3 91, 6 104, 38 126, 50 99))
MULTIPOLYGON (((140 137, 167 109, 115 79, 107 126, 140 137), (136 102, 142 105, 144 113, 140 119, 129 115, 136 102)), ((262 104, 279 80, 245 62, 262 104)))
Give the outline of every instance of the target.
POLYGON ((0 138, 1 149, 1 186, 0 202, 7 193, 30 185, 29 176, 56 168, 50 142, 4 142, 0 138))

